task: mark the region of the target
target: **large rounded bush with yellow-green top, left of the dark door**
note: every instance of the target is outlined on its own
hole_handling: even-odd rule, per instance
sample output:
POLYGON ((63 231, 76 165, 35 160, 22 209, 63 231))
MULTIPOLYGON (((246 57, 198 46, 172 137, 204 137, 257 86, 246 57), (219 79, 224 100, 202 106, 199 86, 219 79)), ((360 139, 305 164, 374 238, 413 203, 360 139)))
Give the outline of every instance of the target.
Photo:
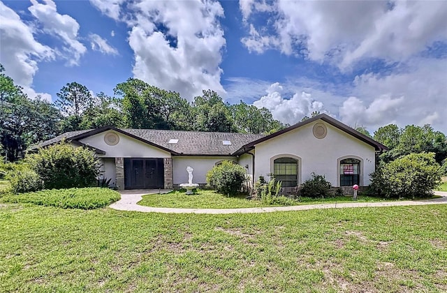
POLYGON ((100 173, 93 151, 64 142, 39 149, 26 161, 41 176, 46 189, 92 186, 100 173))

